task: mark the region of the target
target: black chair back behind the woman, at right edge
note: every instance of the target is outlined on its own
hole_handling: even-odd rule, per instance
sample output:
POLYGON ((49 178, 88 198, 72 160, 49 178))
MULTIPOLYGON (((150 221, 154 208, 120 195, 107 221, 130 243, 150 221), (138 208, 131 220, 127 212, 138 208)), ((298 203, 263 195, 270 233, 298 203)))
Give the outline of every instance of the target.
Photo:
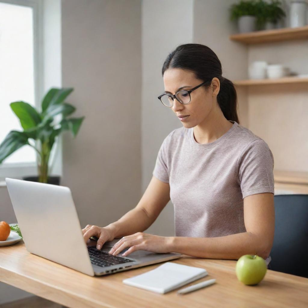
POLYGON ((308 278, 308 195, 275 195, 270 270, 308 278))

